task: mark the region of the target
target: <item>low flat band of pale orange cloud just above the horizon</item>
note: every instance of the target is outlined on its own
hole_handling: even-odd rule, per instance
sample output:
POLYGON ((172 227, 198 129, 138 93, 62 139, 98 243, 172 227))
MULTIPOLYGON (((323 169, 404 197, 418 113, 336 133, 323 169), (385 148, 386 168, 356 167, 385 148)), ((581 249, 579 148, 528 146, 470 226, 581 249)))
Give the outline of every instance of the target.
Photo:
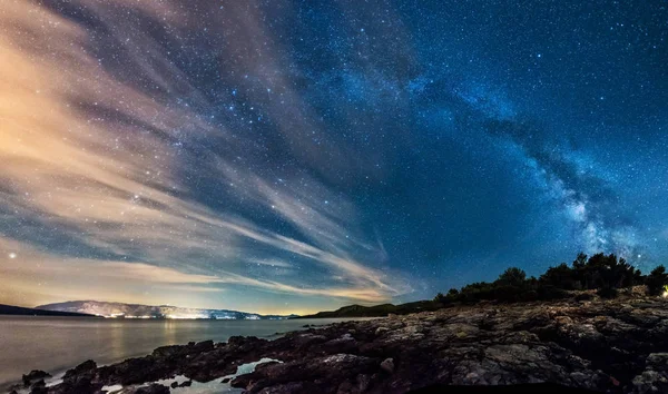
MULTIPOLYGON (((256 290, 303 296, 326 296, 363 302, 381 302, 386 295, 367 287, 305 287, 276 280, 261 280, 230 272, 219 275, 184 273, 169 267, 145 263, 101 262, 84 258, 60 258, 32 249, 29 245, 0 239, 0 273, 10 284, 0 299, 13 301, 16 295, 31 293, 37 286, 48 287, 43 294, 55 299, 70 295, 76 299, 106 297, 119 289, 144 294, 159 286, 169 292, 220 292, 220 285, 250 286, 256 290), (4 296, 3 296, 4 295, 4 296)), ((116 296, 122 296, 120 293, 116 296)), ((125 298, 125 296, 124 296, 125 298)), ((159 301, 157 301, 159 303, 159 301)), ((24 304, 22 299, 20 304, 24 304)))

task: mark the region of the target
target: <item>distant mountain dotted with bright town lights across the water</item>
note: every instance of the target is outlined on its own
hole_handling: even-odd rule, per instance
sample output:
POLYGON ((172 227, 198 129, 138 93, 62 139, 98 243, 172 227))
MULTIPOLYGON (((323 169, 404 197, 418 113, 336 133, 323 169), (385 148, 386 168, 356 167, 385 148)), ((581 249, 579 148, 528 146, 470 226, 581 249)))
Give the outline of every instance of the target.
POLYGON ((229 309, 200 309, 183 308, 171 305, 139 305, 107 303, 100 301, 70 301, 67 303, 56 303, 40 305, 38 309, 86 313, 105 317, 125 317, 125 318, 214 318, 214 319, 285 319, 297 317, 296 315, 259 315, 229 309))

